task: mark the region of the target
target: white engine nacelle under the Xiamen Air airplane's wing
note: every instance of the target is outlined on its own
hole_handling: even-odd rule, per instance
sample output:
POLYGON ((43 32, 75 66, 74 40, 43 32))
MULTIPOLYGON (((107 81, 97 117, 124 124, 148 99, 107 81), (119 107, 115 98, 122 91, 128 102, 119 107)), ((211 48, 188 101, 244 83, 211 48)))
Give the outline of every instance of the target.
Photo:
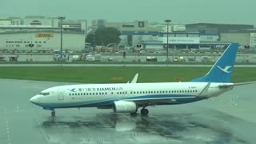
POLYGON ((135 102, 117 101, 114 102, 115 113, 134 113, 137 110, 137 105, 135 102))

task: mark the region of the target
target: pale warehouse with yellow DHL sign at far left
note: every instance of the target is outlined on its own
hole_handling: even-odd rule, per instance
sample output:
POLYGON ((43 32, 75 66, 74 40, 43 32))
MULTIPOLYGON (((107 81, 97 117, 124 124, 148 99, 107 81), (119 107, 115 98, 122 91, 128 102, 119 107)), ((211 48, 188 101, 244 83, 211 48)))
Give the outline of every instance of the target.
MULTIPOLYGON (((0 26, 0 50, 59 50, 60 35, 59 28, 49 26, 0 26)), ((62 36, 63 50, 84 50, 84 33, 63 31, 62 36)))

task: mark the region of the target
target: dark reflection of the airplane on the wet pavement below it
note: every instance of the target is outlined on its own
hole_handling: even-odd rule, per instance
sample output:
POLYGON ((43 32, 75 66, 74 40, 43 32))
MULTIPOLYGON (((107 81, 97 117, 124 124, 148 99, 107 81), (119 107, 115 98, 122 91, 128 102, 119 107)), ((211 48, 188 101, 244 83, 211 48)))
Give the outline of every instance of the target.
MULTIPOLYGON (((209 112, 218 114, 216 111, 209 112)), ((232 117, 222 114, 214 116, 232 117)), ((250 143, 223 125, 218 118, 206 118, 203 114, 148 117, 139 114, 135 117, 129 114, 95 114, 72 118, 48 117, 42 126, 51 143, 250 143)))

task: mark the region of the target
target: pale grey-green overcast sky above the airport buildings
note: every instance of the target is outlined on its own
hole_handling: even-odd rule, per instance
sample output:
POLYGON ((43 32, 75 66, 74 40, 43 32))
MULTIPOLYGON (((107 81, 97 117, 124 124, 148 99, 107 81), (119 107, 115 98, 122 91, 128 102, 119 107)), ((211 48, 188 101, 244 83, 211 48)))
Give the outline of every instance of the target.
POLYGON ((256 0, 1 0, 0 17, 64 15, 108 22, 256 24, 256 0))

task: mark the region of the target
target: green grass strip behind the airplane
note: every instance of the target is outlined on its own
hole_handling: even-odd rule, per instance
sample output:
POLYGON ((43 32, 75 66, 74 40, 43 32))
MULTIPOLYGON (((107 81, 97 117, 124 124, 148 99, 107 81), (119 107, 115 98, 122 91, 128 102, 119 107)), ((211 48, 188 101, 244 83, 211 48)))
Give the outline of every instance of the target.
MULTIPOLYGON (((138 82, 178 82, 201 77, 208 67, 0 67, 0 78, 56 82, 128 82, 139 73, 138 82)), ((256 81, 256 68, 235 68, 232 82, 256 81)))

